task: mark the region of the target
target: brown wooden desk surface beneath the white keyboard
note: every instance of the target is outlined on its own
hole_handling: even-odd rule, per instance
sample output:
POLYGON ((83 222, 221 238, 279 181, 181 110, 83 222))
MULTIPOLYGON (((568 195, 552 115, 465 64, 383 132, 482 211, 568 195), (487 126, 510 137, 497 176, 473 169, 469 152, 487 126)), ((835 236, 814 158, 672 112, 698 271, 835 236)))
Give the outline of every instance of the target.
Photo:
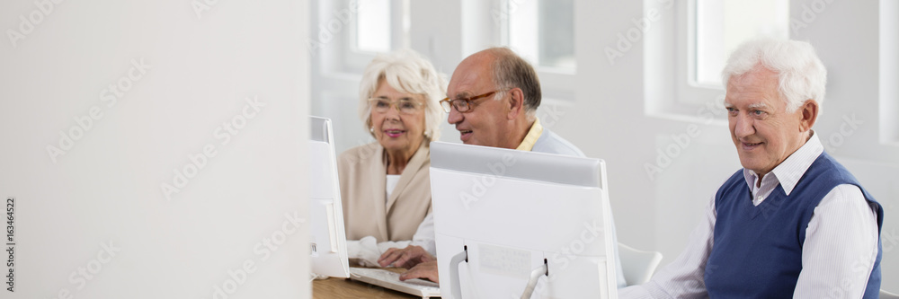
MULTIPOLYGON (((401 272, 405 269, 391 268, 391 271, 401 272)), ((408 295, 380 286, 369 285, 360 281, 347 278, 331 277, 312 282, 313 299, 343 299, 343 298, 385 298, 385 299, 412 299, 422 297, 408 295)))

